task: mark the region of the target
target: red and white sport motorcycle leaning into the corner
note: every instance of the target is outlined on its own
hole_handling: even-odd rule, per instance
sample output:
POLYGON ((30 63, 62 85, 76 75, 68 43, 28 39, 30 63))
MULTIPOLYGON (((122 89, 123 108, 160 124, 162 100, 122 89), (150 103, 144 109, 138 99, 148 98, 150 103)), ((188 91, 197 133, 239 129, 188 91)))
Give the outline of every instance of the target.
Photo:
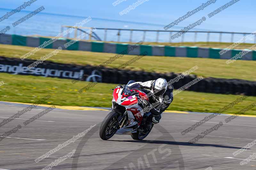
POLYGON ((149 100, 140 85, 131 80, 124 88, 113 91, 112 111, 100 126, 100 138, 108 140, 116 135, 131 135, 134 140, 143 140, 148 136, 154 124, 150 112, 143 112, 140 100, 149 100))

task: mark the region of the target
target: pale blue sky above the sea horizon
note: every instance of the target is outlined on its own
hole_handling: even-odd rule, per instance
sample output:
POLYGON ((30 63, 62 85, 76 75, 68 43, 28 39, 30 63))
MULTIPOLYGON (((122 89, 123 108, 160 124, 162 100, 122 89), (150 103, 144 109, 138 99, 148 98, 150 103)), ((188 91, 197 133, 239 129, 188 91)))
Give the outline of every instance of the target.
MULTIPOLYGON (((126 0, 117 6, 112 5, 114 1, 115 0, 37 0, 25 10, 34 11, 43 5, 45 7, 44 12, 47 13, 168 25, 208 0, 149 0, 122 16, 119 15, 119 12, 137 2, 137 0, 126 0)), ((180 22, 178 27, 174 27, 175 30, 180 27, 188 26, 203 16, 207 17, 208 13, 229 1, 230 0, 217 0, 215 4, 209 5, 204 8, 204 10, 180 22)), ((2 0, 1 8, 14 9, 23 3, 24 0, 2 0)), ((207 20, 196 28, 230 32, 253 32, 256 27, 256 23, 254 22, 255 6, 255 0, 240 0, 214 17, 207 17, 207 20)), ((104 22, 104 20, 102 22, 104 22)), ((110 28, 113 26, 106 24, 105 27, 110 28)))

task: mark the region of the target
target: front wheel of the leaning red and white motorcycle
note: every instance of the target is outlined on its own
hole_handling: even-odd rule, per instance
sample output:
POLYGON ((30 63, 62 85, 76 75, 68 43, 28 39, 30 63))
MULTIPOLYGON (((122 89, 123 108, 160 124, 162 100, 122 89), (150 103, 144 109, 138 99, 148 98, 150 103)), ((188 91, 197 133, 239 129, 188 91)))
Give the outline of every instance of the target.
POLYGON ((100 125, 100 138, 108 140, 115 135, 119 122, 117 120, 119 114, 115 111, 111 111, 103 120, 100 125))

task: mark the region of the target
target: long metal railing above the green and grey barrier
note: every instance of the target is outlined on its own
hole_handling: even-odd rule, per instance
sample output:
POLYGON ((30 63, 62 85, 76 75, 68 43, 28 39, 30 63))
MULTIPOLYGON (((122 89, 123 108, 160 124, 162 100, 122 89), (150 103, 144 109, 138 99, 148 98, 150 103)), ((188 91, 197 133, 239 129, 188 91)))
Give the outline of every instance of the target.
MULTIPOLYGON (((70 27, 74 27, 74 26, 61 26, 61 32, 63 32, 63 29, 64 28, 70 28, 70 27)), ((77 36, 77 33, 80 31, 80 34, 82 32, 84 32, 82 29, 92 29, 92 27, 75 27, 76 30, 74 32, 74 38, 77 36)), ((129 35, 129 41, 123 41, 123 42, 133 42, 132 41, 132 38, 133 38, 133 32, 134 31, 139 31, 139 32, 142 32, 143 33, 143 38, 142 38, 142 41, 145 41, 146 39, 146 33, 147 32, 151 32, 150 36, 152 36, 152 32, 155 32, 156 33, 156 41, 153 41, 153 42, 159 42, 159 33, 160 32, 165 32, 165 33, 169 33, 169 42, 171 43, 172 42, 172 34, 173 33, 178 33, 180 31, 176 31, 176 30, 170 30, 170 31, 165 31, 165 30, 140 30, 140 29, 119 29, 119 28, 96 28, 97 30, 104 30, 104 35, 102 35, 104 38, 103 38, 103 41, 107 41, 107 34, 108 34, 108 31, 117 31, 117 42, 120 42, 120 36, 121 36, 121 31, 124 32, 124 31, 128 31, 130 32, 130 35, 129 35)), ((222 42, 222 35, 223 34, 230 34, 231 35, 231 38, 230 38, 230 42, 234 42, 234 35, 238 34, 238 35, 243 35, 243 36, 246 36, 246 35, 249 35, 249 34, 252 34, 252 33, 239 33, 239 32, 218 32, 218 31, 187 31, 186 33, 194 33, 194 41, 192 42, 197 42, 197 38, 198 38, 198 34, 199 33, 206 33, 207 36, 206 36, 206 42, 210 42, 210 34, 219 34, 219 41, 217 42, 222 42)), ((181 41, 180 42, 184 42, 184 38, 185 38, 185 35, 186 33, 183 33, 181 35, 181 41)), ((67 35, 67 38, 69 38, 69 34, 67 35)), ((72 38, 72 37, 70 37, 72 38)), ((92 36, 90 35, 89 36, 89 40, 92 40, 92 36)), ((95 38, 95 37, 94 37, 95 38)), ((164 41, 166 42, 166 41, 164 41)), ((254 43, 256 43, 256 36, 254 36, 254 43)))

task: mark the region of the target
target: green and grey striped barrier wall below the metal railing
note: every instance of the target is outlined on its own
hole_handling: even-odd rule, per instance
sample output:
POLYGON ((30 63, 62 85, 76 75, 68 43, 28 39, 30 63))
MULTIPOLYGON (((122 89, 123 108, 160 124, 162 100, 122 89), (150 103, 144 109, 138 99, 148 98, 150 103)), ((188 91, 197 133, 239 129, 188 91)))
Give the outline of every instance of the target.
MULTIPOLYGON (((28 37, 20 35, 0 35, 0 44, 9 45, 20 45, 28 47, 39 47, 44 44, 45 41, 49 41, 49 38, 43 37, 28 37)), ((52 44, 48 45, 46 48, 58 48, 61 46, 66 50, 82 50, 82 51, 92 51, 92 52, 103 52, 103 53, 116 53, 119 54, 125 49, 127 49, 129 44, 117 44, 117 43, 105 43, 105 42, 87 42, 87 41, 77 41, 68 48, 64 47, 64 44, 69 42, 69 39, 59 39, 52 44)), ((200 48, 200 47, 171 47, 171 46, 152 46, 152 45, 140 45, 140 47, 129 52, 129 55, 140 55, 142 52, 147 51, 148 55, 154 56, 173 56, 173 57, 194 57, 194 58, 216 58, 216 59, 230 59, 242 50, 233 49, 220 55, 220 48, 200 48)), ((251 51, 244 55, 241 60, 255 60, 256 61, 256 51, 251 51)))

